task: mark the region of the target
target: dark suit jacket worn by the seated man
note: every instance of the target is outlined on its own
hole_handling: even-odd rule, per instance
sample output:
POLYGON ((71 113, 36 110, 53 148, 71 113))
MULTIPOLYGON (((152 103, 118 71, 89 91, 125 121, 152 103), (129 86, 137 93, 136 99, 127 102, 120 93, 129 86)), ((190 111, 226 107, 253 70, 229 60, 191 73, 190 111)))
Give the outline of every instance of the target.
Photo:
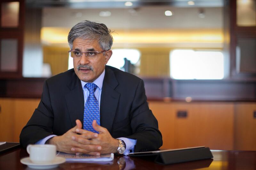
MULTIPOLYGON (((49 135, 63 135, 83 122, 84 94, 74 69, 44 82, 41 101, 20 133, 20 144, 28 144, 49 135)), ((112 137, 137 139, 135 152, 156 150, 162 135, 155 116, 148 108, 143 80, 106 66, 100 100, 100 125, 112 137)))

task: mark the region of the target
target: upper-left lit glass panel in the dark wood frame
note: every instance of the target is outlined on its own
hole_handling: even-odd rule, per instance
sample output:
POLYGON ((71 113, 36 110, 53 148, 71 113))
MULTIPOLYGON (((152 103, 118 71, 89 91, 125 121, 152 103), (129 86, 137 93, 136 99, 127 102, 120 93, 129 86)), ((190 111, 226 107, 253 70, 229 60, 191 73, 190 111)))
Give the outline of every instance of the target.
POLYGON ((1 26, 18 27, 19 26, 19 2, 2 3, 1 8, 1 26))

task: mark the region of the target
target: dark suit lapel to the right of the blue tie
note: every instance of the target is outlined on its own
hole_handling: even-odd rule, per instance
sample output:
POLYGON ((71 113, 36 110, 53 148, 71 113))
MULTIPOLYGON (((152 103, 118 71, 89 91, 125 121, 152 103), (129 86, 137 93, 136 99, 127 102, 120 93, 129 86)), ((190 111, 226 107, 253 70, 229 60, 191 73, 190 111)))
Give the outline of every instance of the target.
POLYGON ((106 66, 100 98, 100 125, 111 132, 120 93, 115 91, 118 82, 112 70, 106 66))

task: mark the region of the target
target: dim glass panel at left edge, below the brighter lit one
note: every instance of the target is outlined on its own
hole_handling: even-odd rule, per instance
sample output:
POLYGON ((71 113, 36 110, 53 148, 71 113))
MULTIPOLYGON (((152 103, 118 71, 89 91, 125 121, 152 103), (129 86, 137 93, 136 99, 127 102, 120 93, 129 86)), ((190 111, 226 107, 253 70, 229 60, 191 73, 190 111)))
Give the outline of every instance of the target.
POLYGON ((1 71, 15 72, 18 70, 18 40, 1 40, 1 71))

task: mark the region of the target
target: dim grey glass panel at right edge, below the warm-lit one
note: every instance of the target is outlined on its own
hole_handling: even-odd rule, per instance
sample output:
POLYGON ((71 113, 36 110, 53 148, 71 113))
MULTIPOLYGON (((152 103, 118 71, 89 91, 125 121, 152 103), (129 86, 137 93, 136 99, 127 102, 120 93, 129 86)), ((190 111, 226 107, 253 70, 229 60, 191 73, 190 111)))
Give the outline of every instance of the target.
POLYGON ((256 73, 256 38, 238 38, 236 71, 256 73))

